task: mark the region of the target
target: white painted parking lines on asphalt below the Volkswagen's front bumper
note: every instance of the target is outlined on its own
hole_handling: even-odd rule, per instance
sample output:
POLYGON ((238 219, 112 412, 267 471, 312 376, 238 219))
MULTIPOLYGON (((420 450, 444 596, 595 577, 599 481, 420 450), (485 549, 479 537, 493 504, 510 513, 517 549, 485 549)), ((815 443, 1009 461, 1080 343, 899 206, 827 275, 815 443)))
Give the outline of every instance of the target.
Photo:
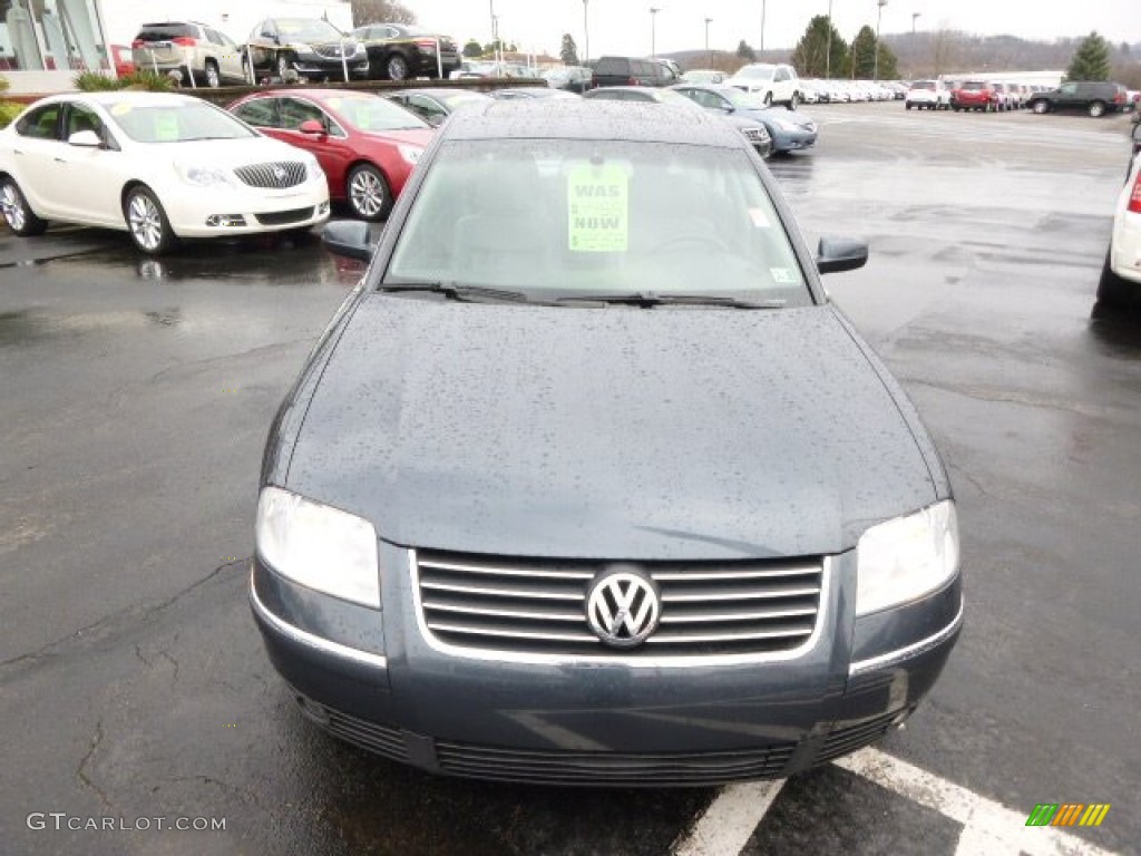
MULTIPOLYGON (((1026 810, 1006 808, 877 749, 861 749, 834 764, 961 823, 955 856, 1118 856, 1055 826, 1027 826, 1026 810)), ((671 853, 737 856, 784 783, 780 778, 722 788, 671 853)))

